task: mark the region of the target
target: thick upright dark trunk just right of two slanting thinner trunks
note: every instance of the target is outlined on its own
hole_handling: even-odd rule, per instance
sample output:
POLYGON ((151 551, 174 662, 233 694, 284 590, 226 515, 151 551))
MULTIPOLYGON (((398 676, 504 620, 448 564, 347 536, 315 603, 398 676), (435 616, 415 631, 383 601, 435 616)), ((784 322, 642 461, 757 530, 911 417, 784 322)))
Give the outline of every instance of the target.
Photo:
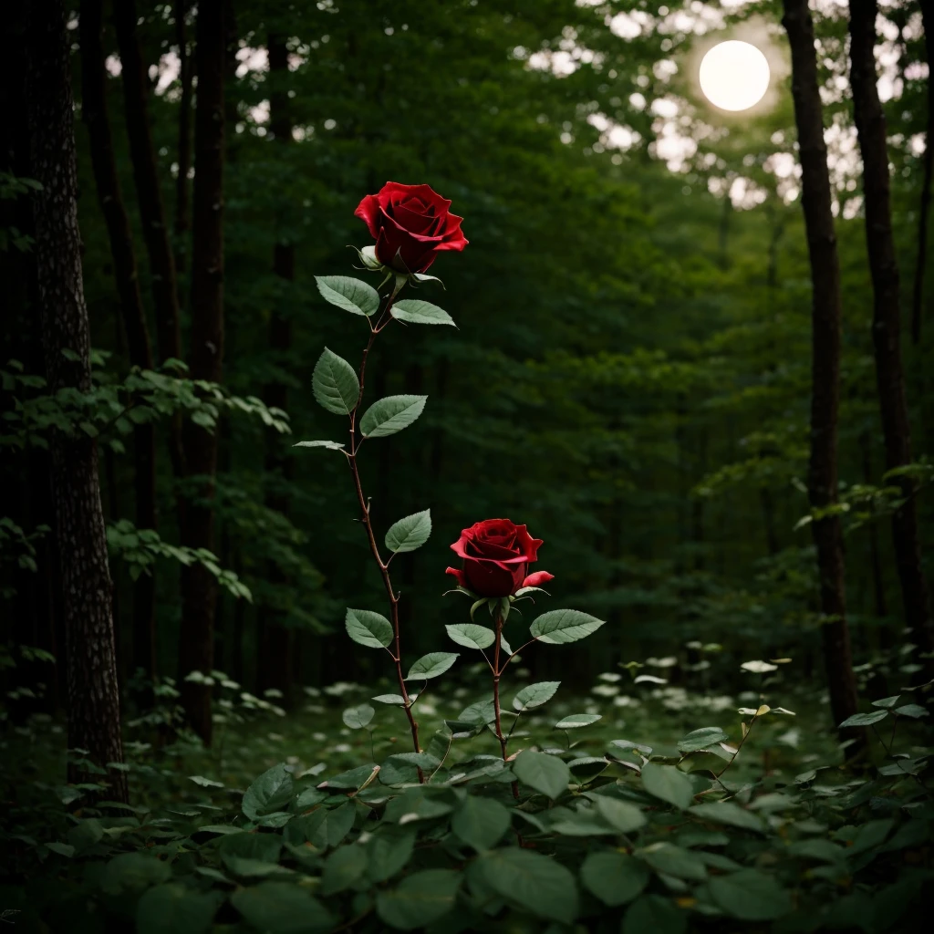
MULTIPOLYGON (((223 359, 223 167, 224 167, 224 17, 223 0, 201 0, 195 32, 198 100, 194 118, 194 196, 191 252, 191 355, 193 379, 220 381, 223 359)), ((215 475, 218 436, 188 421, 183 432, 191 499, 186 502, 182 542, 214 548, 215 475)), ((217 582, 202 565, 181 575, 182 632, 179 675, 214 667, 214 614, 217 582)), ((182 683, 182 704, 191 726, 211 740, 210 689, 182 683)))

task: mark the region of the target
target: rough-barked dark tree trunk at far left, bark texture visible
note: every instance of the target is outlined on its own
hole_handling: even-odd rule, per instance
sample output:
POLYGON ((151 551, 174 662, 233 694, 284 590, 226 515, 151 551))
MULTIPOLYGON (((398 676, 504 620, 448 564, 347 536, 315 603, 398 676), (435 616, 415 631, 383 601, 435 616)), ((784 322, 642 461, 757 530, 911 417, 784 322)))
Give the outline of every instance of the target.
MULTIPOLYGON (((34 0, 29 14, 28 103, 39 318, 50 392, 91 390, 91 335, 78 231, 78 167, 69 42, 61 0, 34 0), (66 359, 64 351, 71 353, 66 359)), ((83 432, 51 438, 68 681, 68 746, 101 766, 123 761, 111 583, 97 448, 83 432)), ((126 776, 108 772, 107 797, 127 800, 126 776)), ((75 767, 72 781, 86 780, 75 767)))

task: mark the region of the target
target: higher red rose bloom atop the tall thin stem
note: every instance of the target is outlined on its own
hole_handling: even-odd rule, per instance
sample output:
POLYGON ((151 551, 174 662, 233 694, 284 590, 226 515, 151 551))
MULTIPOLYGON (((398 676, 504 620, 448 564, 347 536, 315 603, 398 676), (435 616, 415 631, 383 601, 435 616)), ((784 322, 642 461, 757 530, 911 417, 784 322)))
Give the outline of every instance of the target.
POLYGON ((401 273, 423 273, 435 255, 467 246, 451 206, 430 185, 388 181, 379 194, 368 194, 354 211, 376 239, 376 259, 401 273))

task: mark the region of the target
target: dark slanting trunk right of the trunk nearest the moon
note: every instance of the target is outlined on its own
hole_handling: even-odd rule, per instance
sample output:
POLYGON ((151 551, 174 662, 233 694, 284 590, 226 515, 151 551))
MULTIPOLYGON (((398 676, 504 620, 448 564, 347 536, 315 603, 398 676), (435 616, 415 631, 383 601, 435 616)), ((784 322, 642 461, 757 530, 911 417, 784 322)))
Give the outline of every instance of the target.
MULTIPOLYGON (((856 134, 863 157, 876 385, 885 440, 885 469, 891 471, 911 462, 912 442, 901 368, 899 266, 892 237, 885 115, 876 87, 873 51, 876 12, 875 0, 852 0, 850 3, 850 84, 856 134)), ((903 498, 892 516, 892 539, 905 622, 912 632, 913 642, 923 652, 931 653, 934 652, 934 622, 921 563, 915 484, 908 477, 893 478, 893 483, 899 486, 903 498)), ((927 669, 929 672, 934 669, 931 659, 927 660, 927 669)))

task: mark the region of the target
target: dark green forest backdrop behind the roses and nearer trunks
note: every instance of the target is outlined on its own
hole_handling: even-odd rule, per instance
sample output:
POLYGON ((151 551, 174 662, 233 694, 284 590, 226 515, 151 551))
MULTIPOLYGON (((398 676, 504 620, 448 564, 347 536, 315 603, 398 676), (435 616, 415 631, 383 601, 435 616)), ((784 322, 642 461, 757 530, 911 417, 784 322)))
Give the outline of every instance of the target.
MULTIPOLYGON (((722 646, 737 666, 794 657, 805 681, 824 677, 810 525, 828 514, 808 500, 812 276, 781 5, 103 7, 66 11, 93 347, 80 399, 45 383, 28 37, 24 13, 5 14, 0 615, 14 714, 64 696, 64 666, 50 677, 33 651, 61 659, 64 646, 57 569, 72 543, 54 531, 48 441, 64 423, 99 454, 125 709, 149 706, 153 679, 177 679, 206 736, 210 688, 184 682, 192 670, 281 691, 286 707, 299 686, 375 676, 343 631, 345 607, 378 609, 380 589, 346 464, 291 445, 343 431, 314 404, 311 372, 325 345, 358 360, 364 332, 313 276, 355 275, 346 245, 368 236, 353 211, 389 179, 450 198, 471 241, 432 267, 444 291, 421 287, 458 330, 390 329, 370 364, 374 397, 429 396, 418 430, 362 466, 377 528, 432 510, 431 541, 399 560, 406 650, 439 647, 462 616, 442 596, 447 545, 505 516, 545 540, 550 591, 608 622, 559 662, 530 658, 534 673, 559 666, 583 685, 655 657, 698 678, 722 646), (692 55, 720 21, 718 36, 754 29, 770 45, 768 106, 726 115, 694 87, 692 55), (686 139, 673 152, 672 134, 686 139), (16 694, 36 672, 44 697, 16 694)), ((929 579, 923 12, 886 4, 876 39, 894 89, 905 451, 912 432, 901 464, 880 419, 846 10, 814 17, 842 270, 832 512, 857 684, 883 682, 872 696, 899 668, 921 670, 903 646, 924 648, 931 626, 891 531, 913 512, 929 579)))

